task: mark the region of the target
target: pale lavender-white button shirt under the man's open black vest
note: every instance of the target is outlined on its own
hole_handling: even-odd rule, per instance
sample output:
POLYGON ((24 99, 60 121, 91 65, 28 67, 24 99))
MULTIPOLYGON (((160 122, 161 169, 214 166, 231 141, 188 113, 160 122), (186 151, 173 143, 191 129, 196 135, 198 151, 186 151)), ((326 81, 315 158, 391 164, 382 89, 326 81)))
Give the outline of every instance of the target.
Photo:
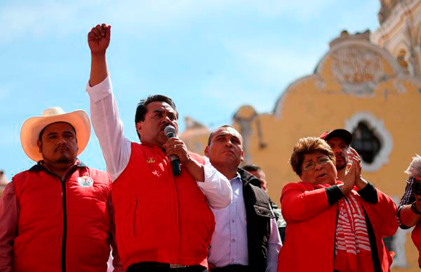
MULTIPOLYGON (((230 264, 248 265, 247 216, 243 198, 243 182, 239 173, 229 180, 232 186, 232 203, 220 210, 213 210, 215 231, 210 241, 208 262, 216 267, 230 264)), ((276 219, 272 218, 269 236, 269 252, 266 259, 266 271, 276 272, 278 253, 282 246, 276 219)))

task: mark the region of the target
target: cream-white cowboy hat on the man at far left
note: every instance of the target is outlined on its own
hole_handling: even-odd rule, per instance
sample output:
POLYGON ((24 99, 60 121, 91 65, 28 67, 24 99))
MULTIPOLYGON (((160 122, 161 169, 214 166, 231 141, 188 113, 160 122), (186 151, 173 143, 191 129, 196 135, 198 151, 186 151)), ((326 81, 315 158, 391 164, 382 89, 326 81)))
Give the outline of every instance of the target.
POLYGON ((51 107, 43 111, 41 116, 27 119, 20 129, 20 143, 22 144, 23 151, 33 161, 42 160, 42 154, 36 145, 39 139, 39 133, 47 125, 55 122, 66 122, 73 125, 74 130, 76 130, 77 147, 79 148, 77 151, 78 155, 82 153, 86 144, 88 144, 89 137, 91 137, 91 122, 89 121, 88 114, 82 110, 72 111, 66 114, 60 107, 51 107))

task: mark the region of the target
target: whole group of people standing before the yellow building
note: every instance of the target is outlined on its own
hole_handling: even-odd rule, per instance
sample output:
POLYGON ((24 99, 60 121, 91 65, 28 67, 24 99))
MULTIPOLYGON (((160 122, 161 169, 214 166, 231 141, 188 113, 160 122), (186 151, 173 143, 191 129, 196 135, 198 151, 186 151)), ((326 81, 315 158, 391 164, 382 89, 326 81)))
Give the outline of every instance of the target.
MULTIPOLYGON (((303 137, 290 165, 299 182, 267 194, 264 170, 243 162, 231 125, 213 130, 194 154, 178 138, 170 97, 140 100, 123 135, 107 70, 110 25, 88 33, 91 121, 60 107, 23 123, 21 144, 36 164, 0 200, 0 271, 389 271, 382 238, 413 230, 421 250, 421 157, 413 159, 398 206, 361 175, 344 129, 303 137), (107 172, 79 161, 91 135, 107 172)), ((420 259, 421 267, 421 259, 420 259)))

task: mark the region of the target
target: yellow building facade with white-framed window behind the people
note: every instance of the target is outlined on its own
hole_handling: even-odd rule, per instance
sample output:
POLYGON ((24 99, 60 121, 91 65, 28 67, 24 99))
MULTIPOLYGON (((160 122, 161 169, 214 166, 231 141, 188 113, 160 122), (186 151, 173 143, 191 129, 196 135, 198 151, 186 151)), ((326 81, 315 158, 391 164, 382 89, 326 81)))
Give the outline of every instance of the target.
MULTIPOLYGON (((387 5, 392 9, 388 16, 397 14, 394 8, 401 8, 395 2, 382 1, 384 13, 387 5)), ((421 7, 421 1, 406 2, 415 9, 421 7)), ((408 14, 413 16, 415 10, 408 14)), ((382 24, 392 24, 383 16, 382 24)), ((396 27, 392 30, 396 32, 396 27)), ((421 62, 415 62, 413 55, 408 64, 399 54, 389 52, 385 32, 382 30, 382 42, 377 40, 380 46, 370 41, 380 30, 373 35, 342 32, 330 42, 314 74, 291 83, 274 101, 271 113, 259 114, 250 105, 236 111, 232 124, 243 135, 244 163, 255 163, 266 172, 272 200, 279 203, 283 186, 299 179, 288 159, 300 137, 346 128, 354 134, 353 146, 363 154, 363 177, 399 203, 407 179, 403 171, 421 151, 417 118, 421 108, 417 65, 421 62)), ((186 123, 182 139, 189 149, 203 154, 209 131, 191 119, 186 123)), ((392 271, 419 271, 410 230, 397 231, 392 249, 396 252, 392 271)))

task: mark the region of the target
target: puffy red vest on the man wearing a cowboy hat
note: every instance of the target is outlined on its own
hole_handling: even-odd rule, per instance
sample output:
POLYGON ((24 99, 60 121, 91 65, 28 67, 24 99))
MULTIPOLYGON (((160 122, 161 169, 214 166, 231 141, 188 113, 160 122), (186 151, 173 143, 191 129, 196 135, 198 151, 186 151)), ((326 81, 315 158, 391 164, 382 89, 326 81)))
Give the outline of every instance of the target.
POLYGON ((35 165, 12 181, 20 208, 13 271, 62 271, 63 261, 68 272, 107 271, 111 182, 105 172, 77 167, 62 184, 35 165))

